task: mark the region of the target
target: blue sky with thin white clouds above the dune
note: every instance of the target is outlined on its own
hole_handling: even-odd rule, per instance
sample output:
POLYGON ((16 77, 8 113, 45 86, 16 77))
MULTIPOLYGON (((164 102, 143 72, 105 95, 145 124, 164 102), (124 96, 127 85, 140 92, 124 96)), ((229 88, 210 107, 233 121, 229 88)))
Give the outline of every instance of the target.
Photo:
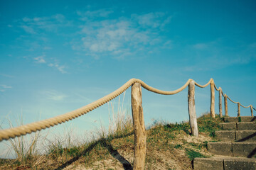
MULTIPOLYGON (((6 118, 16 126, 21 115, 26 124, 73 111, 132 78, 165 91, 213 78, 233 101, 256 107, 255 18, 250 0, 0 0, 1 127, 9 128, 6 118)), ((123 105, 132 114, 130 93, 123 105)), ((188 120, 187 93, 142 89, 145 124, 188 120)), ((218 113, 218 91, 215 100, 218 113)), ((65 124, 78 133, 107 125, 110 108, 65 124)), ((228 108, 237 114, 237 105, 228 108)), ((210 87, 196 87, 196 113, 208 111, 210 87)))

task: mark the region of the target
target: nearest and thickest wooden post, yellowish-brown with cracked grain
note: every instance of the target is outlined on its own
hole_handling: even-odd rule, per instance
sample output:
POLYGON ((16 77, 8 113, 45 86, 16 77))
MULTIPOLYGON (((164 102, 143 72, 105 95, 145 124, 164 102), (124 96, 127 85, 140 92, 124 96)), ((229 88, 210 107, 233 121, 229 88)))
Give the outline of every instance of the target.
POLYGON ((146 131, 142 108, 141 84, 132 85, 132 119, 134 124, 134 170, 144 170, 146 159, 146 131))

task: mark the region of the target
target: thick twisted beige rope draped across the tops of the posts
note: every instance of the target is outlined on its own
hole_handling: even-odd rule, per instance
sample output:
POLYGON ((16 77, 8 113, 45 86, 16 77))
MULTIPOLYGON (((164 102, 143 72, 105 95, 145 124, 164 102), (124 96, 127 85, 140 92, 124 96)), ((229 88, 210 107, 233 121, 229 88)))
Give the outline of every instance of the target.
MULTIPOLYGON (((79 116, 84 115, 84 114, 94 110, 95 108, 100 107, 100 106, 104 105, 105 103, 111 101, 112 99, 116 98, 117 96, 122 94, 125 90, 127 90, 129 88, 129 86, 132 86, 132 84, 134 84, 134 83, 139 83, 144 87, 144 89, 154 92, 156 94, 173 95, 173 94, 178 94, 179 92, 183 91, 183 89, 186 89, 186 87, 188 86, 188 84, 191 81, 193 81, 193 79, 188 79, 188 81, 186 81, 186 84, 181 86, 181 88, 176 89, 175 91, 161 91, 159 89, 155 89, 155 88, 145 84, 144 81, 142 81, 140 79, 130 79, 124 85, 119 87, 119 89, 113 91, 111 94, 108 94, 107 96, 104 96, 104 97, 98 99, 97 101, 94 101, 94 102, 88 104, 87 106, 78 108, 75 111, 71 111, 71 112, 65 113, 63 115, 58 115, 58 116, 55 116, 53 118, 49 118, 46 120, 29 123, 27 125, 21 125, 16 128, 1 130, 0 131, 0 142, 2 140, 9 140, 10 138, 19 137, 21 135, 26 135, 28 133, 30 134, 31 132, 36 132, 38 130, 50 128, 50 127, 53 127, 54 125, 65 123, 66 121, 73 120, 74 118, 78 118, 79 116)), ((208 86, 210 83, 214 84, 213 79, 210 79, 210 81, 208 81, 208 83, 205 85, 200 85, 196 82, 195 82, 195 85, 199 86, 201 88, 204 88, 204 87, 208 86)), ((216 86, 215 86, 215 89, 217 89, 216 86)), ((224 96, 226 96, 226 94, 224 96)), ((230 101, 232 101, 232 100, 230 99, 230 101)), ((233 103, 238 103, 238 102, 233 101, 233 103)), ((242 107, 244 107, 244 106, 242 106, 242 107)), ((253 108, 253 109, 255 110, 255 108, 253 108)))

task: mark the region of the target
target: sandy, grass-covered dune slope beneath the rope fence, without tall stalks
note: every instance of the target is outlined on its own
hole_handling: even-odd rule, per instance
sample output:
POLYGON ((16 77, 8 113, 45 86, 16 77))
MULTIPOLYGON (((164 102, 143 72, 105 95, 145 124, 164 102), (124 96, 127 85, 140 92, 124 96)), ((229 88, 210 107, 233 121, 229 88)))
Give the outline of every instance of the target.
MULTIPOLYGON (((146 169, 192 169, 194 157, 211 157, 206 144, 222 120, 210 115, 198 118, 199 137, 190 135, 186 123, 155 123, 146 130, 146 169)), ((132 169, 134 135, 127 120, 112 134, 80 146, 52 145, 47 154, 23 159, 2 159, 0 169, 132 169)))

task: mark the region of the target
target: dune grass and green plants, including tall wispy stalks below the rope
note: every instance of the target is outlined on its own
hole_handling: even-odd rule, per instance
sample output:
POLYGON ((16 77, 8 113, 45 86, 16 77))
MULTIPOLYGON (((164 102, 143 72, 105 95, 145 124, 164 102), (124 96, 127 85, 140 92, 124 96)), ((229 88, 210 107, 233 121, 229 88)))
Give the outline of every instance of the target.
MULTIPOLYGON (((120 101, 120 99, 119 99, 120 101)), ((132 118, 118 103, 114 111, 110 103, 110 126, 108 130, 95 130, 90 142, 77 142, 71 130, 65 130, 65 137, 47 140, 40 133, 31 135, 26 143, 23 137, 11 140, 16 159, 0 159, 0 169, 63 169, 66 166, 91 169, 131 169, 134 154, 132 118), (37 150, 40 140, 47 141, 45 153, 37 150)), ((155 123, 146 130, 146 169, 192 169, 195 157, 210 157, 207 142, 215 140, 214 131, 220 130, 210 114, 198 118, 199 137, 191 136, 188 122, 155 123)), ((70 168, 71 169, 71 168, 70 168)))

